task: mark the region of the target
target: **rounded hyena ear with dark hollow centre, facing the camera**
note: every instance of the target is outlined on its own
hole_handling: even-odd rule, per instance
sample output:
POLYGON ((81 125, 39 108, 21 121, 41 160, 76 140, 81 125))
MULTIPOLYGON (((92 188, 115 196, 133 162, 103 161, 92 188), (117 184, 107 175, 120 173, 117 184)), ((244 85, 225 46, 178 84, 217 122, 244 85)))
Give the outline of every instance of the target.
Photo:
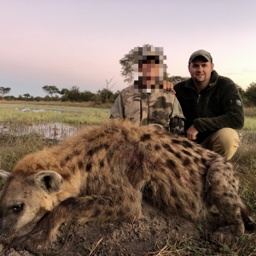
POLYGON ((58 193, 63 188, 61 175, 53 171, 38 172, 35 176, 35 182, 49 194, 58 193))

